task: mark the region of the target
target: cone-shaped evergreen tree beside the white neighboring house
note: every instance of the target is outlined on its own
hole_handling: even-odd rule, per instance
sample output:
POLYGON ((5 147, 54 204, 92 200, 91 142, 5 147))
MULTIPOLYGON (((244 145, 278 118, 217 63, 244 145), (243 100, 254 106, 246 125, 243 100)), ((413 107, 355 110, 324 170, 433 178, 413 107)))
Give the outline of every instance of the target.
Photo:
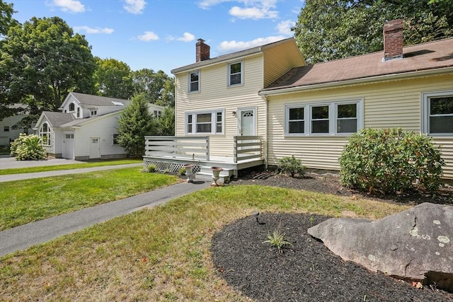
POLYGON ((144 136, 155 133, 156 122, 149 113, 148 100, 144 94, 132 98, 132 103, 122 111, 118 122, 118 144, 129 156, 144 155, 144 136))

